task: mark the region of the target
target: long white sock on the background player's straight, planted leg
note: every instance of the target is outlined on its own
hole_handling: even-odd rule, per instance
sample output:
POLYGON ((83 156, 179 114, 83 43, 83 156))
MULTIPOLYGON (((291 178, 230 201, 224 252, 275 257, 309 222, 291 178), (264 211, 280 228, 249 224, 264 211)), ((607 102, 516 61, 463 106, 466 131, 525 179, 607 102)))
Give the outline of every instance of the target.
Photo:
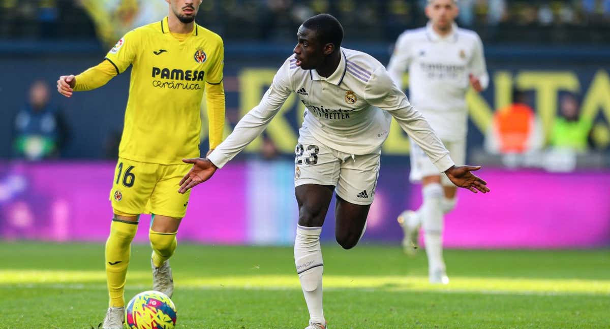
POLYGON ((429 271, 445 270, 443 261, 443 188, 438 183, 423 187, 422 222, 429 271))

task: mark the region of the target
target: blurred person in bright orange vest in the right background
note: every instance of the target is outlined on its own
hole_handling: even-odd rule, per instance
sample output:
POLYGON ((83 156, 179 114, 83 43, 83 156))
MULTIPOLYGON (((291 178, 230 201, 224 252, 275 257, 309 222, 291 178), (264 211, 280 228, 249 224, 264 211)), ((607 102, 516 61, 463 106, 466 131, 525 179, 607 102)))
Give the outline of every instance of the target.
POLYGON ((544 143, 542 125, 528 105, 527 94, 515 90, 512 104, 496 111, 485 140, 492 154, 523 154, 539 150, 544 143))

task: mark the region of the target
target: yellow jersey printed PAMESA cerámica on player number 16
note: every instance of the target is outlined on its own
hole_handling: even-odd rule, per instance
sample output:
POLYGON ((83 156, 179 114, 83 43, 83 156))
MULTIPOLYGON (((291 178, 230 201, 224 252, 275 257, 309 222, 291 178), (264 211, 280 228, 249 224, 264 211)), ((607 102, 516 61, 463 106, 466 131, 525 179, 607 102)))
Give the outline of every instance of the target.
MULTIPOLYGON (((165 17, 127 32, 106 60, 117 74, 133 65, 119 157, 160 164, 199 157, 199 105, 206 83, 223 80, 220 36, 195 24, 192 34, 180 41, 170 33, 165 17)), ((223 118, 215 118, 220 127, 224 94, 222 101, 223 118)), ((210 132, 210 148, 220 144, 219 139, 221 132, 220 138, 210 132)))

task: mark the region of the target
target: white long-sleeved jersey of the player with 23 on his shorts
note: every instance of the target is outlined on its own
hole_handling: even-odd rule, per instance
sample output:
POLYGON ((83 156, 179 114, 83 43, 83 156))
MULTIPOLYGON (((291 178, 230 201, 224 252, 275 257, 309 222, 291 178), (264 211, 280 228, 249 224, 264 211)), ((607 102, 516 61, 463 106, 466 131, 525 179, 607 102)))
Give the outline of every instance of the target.
POLYGON ((296 66, 294 55, 287 58, 260 104, 239 121, 209 160, 218 168, 224 166, 262 133, 284 101, 296 93, 306 106, 303 127, 332 149, 354 155, 375 152, 386 140, 393 116, 439 171, 453 166, 447 149, 394 85, 386 68, 364 52, 340 51, 339 66, 326 78, 315 69, 296 66))

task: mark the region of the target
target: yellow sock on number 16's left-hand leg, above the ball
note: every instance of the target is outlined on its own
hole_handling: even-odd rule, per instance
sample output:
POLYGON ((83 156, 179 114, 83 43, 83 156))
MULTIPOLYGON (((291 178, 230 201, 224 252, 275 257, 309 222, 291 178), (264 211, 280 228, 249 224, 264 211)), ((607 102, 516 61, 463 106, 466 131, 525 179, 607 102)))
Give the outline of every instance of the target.
POLYGON ((129 265, 131 241, 138 230, 137 222, 112 219, 106 240, 106 278, 110 307, 125 306, 125 275, 129 265))

